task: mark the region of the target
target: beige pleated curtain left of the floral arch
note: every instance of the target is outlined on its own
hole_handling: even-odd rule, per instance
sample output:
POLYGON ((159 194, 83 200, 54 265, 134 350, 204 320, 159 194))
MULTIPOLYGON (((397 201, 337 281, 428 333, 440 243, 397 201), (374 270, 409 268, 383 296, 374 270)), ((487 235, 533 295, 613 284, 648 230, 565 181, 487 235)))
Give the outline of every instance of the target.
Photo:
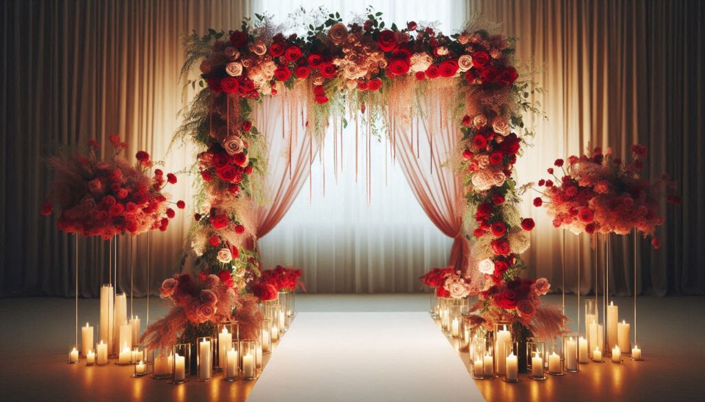
MULTIPOLYGON (((249 1, 8 0, 0 3, 0 295, 73 294, 73 237, 39 215, 53 146, 101 144, 112 133, 164 158, 168 171, 187 168, 195 149, 166 155, 177 112, 190 92, 179 80, 180 34, 228 30, 249 15, 249 1), (166 156, 166 158, 165 158, 166 156)), ((192 177, 178 175, 170 191, 188 203, 167 232, 150 234, 152 289, 179 269, 192 219, 192 177), (176 256, 176 257, 175 257, 176 256)), ((128 240, 118 250, 118 290, 129 291, 128 240)), ((135 240, 135 296, 147 290, 146 235, 135 240)), ((80 239, 82 296, 108 282, 108 247, 80 239)))

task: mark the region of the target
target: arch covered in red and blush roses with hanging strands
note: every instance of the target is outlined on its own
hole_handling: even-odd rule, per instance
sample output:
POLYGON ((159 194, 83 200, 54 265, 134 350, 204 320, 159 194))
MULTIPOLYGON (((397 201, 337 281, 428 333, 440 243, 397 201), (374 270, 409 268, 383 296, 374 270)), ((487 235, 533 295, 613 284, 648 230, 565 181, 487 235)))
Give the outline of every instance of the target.
MULTIPOLYGON (((276 96, 287 123, 282 135, 289 140, 305 131, 320 142, 330 125, 355 125, 362 135, 386 132, 395 142, 395 130, 414 132, 416 126, 418 132, 419 115, 440 127, 460 127, 457 148, 443 162, 462 177, 465 225, 477 227, 467 236, 475 239, 471 262, 456 282, 479 297, 483 314, 510 315, 525 324, 535 320, 534 299, 548 284, 541 282, 537 292, 532 279, 519 279, 518 255, 529 246, 527 231, 534 222, 517 209, 513 166, 525 138, 533 135, 522 119, 523 113, 538 112, 529 93, 540 89, 528 69, 517 70, 513 42, 482 18, 449 36, 414 22, 387 27, 381 13, 373 12, 347 25, 338 13, 326 14, 302 36, 277 32, 269 18, 257 15, 239 30, 186 37, 183 74, 198 67, 200 77, 189 81, 198 90, 175 140, 201 147, 201 191, 186 244, 202 275, 183 286, 194 295, 214 287, 222 294, 220 287, 229 287, 234 297, 228 300, 237 310, 257 288, 257 256, 245 244, 256 225, 251 200, 262 201, 266 144, 255 124, 262 122, 251 114, 264 97, 276 96), (428 107, 431 97, 438 99, 437 108, 428 107), (491 270, 491 281, 479 270, 491 270), (515 298, 493 303, 491 295, 510 292, 488 293, 490 287, 512 290, 515 298)), ((187 280, 175 279, 170 287, 187 280)), ((191 301, 176 302, 175 309, 167 319, 183 315, 182 322, 197 325, 212 318, 191 301)), ((155 326, 147 330, 148 339, 157 339, 160 323, 155 326)), ((165 327, 176 328, 161 323, 159 335, 173 337, 165 327)))

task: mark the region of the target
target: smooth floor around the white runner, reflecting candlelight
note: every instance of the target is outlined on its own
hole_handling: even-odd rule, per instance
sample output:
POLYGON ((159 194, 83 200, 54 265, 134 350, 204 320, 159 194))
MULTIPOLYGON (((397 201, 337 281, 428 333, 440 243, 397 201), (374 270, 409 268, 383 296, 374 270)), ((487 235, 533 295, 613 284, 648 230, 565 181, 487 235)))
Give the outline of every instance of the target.
MULTIPOLYGON (((560 296, 549 295, 546 299, 548 303, 560 303, 560 296)), ((569 317, 575 317, 576 302, 574 296, 566 296, 569 317)), ((615 298, 614 302, 622 309, 620 319, 632 321, 632 299, 615 298)), ((62 396, 73 401, 124 401, 126 397, 145 401, 243 401, 252 389, 252 382, 243 381, 192 382, 174 387, 148 378, 132 379, 129 368, 112 366, 101 370, 68 365, 66 354, 74 339, 74 308, 73 299, 0 299, 0 401, 44 401, 62 396)), ((316 294, 298 295, 296 299, 300 312, 400 312, 428 308, 427 294, 316 294)), ((133 309, 144 323, 146 299, 135 299, 133 309)), ((150 299, 150 320, 167 309, 158 298, 150 299)), ((99 301, 80 300, 78 310, 80 325, 86 321, 95 323, 99 301)), ((575 322, 571 324, 575 326, 575 322)), ((476 380, 475 384, 488 401, 702 401, 705 298, 641 297, 638 324, 643 362, 627 359, 623 365, 590 363, 581 365, 580 373, 551 377, 545 382, 524 379, 519 384, 507 384, 494 379, 476 380)), ((458 358, 469 367, 467 353, 458 353, 458 358)), ((429 384, 439 386, 442 384, 429 384)))

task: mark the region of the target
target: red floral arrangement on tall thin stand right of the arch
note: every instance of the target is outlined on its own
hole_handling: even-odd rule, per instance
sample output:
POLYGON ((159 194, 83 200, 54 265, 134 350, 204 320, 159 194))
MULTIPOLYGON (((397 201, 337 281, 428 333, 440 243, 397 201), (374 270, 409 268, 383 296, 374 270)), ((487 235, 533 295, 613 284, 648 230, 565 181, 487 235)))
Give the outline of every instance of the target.
MULTIPOLYGON (((567 163, 556 159, 555 168, 548 168, 551 177, 538 182, 543 191, 534 206, 546 207, 554 227, 575 233, 628 234, 636 229, 644 237, 654 236, 664 222, 659 213, 663 196, 668 203, 681 199, 667 175, 654 182, 639 177, 646 146, 635 144, 630 151, 632 158, 626 162, 615 158, 611 149, 603 153, 599 147, 590 155, 570 156, 567 163), (557 169, 563 173, 560 177, 557 169)), ((653 237, 651 244, 658 249, 661 242, 653 237)))

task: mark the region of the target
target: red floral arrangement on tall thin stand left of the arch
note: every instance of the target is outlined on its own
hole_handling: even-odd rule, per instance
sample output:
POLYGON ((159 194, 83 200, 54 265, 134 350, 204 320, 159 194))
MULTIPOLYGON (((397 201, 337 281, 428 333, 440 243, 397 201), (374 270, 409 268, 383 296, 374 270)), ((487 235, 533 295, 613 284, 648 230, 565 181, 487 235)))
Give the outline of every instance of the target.
MULTIPOLYGON (((149 153, 139 151, 137 163, 129 165, 119 154, 128 144, 113 134, 113 156, 97 158, 99 144, 91 139, 87 152, 75 150, 49 159, 54 170, 52 192, 42 204, 42 215, 51 215, 54 206, 61 211, 59 230, 84 236, 110 239, 125 232, 131 235, 148 230, 166 230, 176 212, 162 194, 166 184, 176 184, 176 175, 165 177, 161 169, 150 179, 147 170, 154 166, 149 153)), ((184 201, 173 203, 183 209, 184 201)))

